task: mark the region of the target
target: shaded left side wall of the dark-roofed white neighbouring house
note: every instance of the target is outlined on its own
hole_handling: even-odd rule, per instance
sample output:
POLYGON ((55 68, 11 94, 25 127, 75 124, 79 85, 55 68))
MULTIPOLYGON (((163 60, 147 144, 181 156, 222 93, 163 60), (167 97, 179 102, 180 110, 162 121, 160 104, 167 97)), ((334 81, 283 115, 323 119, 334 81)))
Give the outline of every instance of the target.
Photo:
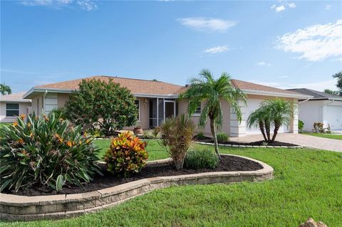
POLYGON ((314 128, 314 122, 323 122, 323 100, 299 103, 299 120, 304 122, 304 131, 314 128))

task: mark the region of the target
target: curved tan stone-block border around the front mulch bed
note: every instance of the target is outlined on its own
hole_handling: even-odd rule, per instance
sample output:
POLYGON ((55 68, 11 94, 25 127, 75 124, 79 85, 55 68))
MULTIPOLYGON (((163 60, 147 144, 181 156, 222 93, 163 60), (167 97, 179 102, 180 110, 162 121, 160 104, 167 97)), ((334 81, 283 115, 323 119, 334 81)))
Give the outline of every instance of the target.
MULTIPOLYGON (((242 157, 232 154, 222 155, 242 157)), ((263 169, 257 171, 217 171, 180 176, 157 176, 83 194, 52 196, 0 194, 0 220, 33 221, 71 218, 85 213, 100 211, 103 208, 118 205, 123 201, 146 194, 155 189, 163 189, 169 186, 264 181, 273 177, 274 169, 268 164, 248 157, 242 158, 261 164, 263 169)), ((149 163, 155 162, 170 162, 170 159, 149 163)))

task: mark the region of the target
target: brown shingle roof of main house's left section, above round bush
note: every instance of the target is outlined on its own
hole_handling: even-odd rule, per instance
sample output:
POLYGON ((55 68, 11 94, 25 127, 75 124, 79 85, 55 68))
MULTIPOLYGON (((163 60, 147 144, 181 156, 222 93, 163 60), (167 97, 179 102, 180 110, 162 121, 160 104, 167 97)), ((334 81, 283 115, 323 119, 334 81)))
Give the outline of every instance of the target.
MULTIPOLYGON (((113 82, 120 83, 122 87, 128 88, 132 93, 141 93, 147 95, 176 95, 179 93, 179 90, 183 88, 180 85, 174 85, 171 83, 165 83, 154 80, 138 80, 131 78, 119 78, 119 77, 110 77, 104 75, 95 75, 90 78, 85 78, 86 80, 97 79, 108 81, 113 79, 113 82)), ((64 90, 77 90, 78 85, 81 83, 83 79, 78 80, 68 80, 59 83, 51 83, 47 85, 38 85, 35 88, 48 88, 48 89, 64 89, 64 90)))

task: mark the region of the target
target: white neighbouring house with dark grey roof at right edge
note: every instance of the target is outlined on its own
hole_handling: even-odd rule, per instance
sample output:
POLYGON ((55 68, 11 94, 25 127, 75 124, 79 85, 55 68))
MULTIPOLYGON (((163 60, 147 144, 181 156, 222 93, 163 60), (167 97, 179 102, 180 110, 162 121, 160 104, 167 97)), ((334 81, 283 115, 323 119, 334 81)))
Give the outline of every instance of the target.
POLYGON ((307 88, 289 89, 310 95, 311 98, 299 100, 299 120, 304 122, 304 130, 311 131, 315 122, 330 125, 331 130, 342 130, 342 96, 322 93, 307 88))

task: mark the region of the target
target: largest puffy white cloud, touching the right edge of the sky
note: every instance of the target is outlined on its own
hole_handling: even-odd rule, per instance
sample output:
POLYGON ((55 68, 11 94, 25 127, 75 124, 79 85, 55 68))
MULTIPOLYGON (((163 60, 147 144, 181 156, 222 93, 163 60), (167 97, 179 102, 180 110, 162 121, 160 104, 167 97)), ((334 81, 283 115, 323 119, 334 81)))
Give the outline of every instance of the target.
POLYGON ((276 48, 310 61, 342 56, 342 20, 286 33, 277 38, 276 48))

